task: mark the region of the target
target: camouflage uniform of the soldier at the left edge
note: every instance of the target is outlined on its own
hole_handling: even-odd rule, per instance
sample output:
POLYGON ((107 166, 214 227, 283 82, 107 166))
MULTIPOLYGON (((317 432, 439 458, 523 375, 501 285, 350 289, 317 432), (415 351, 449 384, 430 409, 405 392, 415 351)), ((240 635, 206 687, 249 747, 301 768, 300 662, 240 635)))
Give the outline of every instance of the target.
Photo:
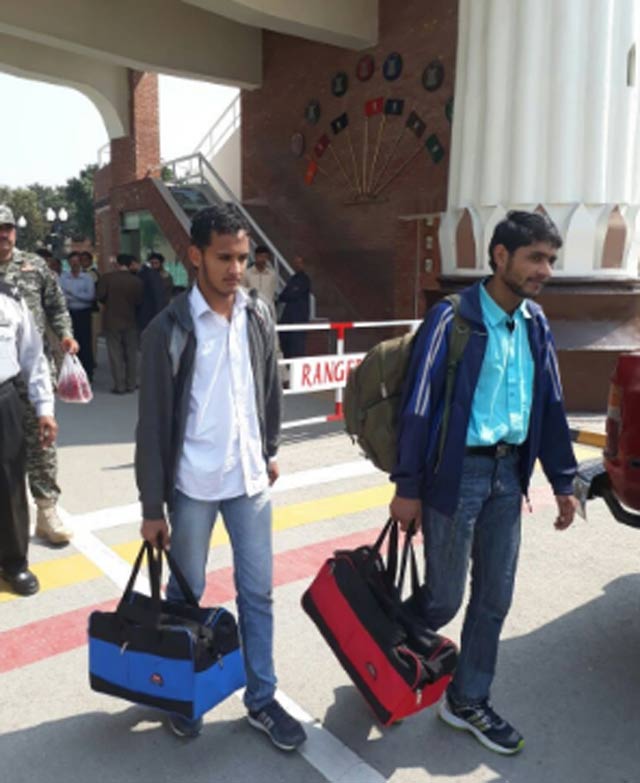
MULTIPOLYGON (((52 351, 46 339, 48 325, 54 335, 62 340, 73 336, 67 303, 55 274, 39 256, 17 248, 7 264, 0 264, 0 281, 17 286, 36 322, 38 332, 45 343, 47 357, 52 367, 55 388, 52 351)), ((19 382, 20 396, 26 409, 27 472, 31 494, 37 499, 56 501, 60 494, 57 484, 58 460, 55 445, 42 448, 38 437, 38 420, 29 402, 24 384, 19 382)))

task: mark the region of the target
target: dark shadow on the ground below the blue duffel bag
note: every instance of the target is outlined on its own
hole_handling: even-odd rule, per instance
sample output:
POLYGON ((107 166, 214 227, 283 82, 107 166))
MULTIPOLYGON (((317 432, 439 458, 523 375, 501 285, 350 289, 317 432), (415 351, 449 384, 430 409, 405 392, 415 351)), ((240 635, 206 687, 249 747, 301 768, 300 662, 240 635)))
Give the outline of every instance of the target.
POLYGON ((7 783, 317 780, 300 756, 283 758, 244 718, 205 723, 198 739, 183 740, 158 712, 135 706, 9 732, 0 736, 0 759, 7 783))

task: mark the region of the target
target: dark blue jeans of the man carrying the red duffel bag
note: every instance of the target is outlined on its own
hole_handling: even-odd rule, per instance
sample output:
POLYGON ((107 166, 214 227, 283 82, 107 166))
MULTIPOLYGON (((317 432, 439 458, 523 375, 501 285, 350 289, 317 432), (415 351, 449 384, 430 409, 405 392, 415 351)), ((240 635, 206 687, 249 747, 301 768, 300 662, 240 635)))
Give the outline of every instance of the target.
POLYGON ((426 580, 423 610, 438 630, 458 612, 469 570, 471 597, 462 628, 454 699, 489 698, 498 640, 511 606, 520 548, 522 489, 515 454, 494 459, 466 456, 458 507, 447 517, 423 499, 426 580))

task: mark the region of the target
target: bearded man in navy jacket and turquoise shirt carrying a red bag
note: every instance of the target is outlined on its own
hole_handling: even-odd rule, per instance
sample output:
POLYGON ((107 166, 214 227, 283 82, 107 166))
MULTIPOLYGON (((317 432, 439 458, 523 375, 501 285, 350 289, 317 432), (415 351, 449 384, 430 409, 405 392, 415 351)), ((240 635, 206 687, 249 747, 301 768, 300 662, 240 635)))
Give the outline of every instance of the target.
POLYGON ((539 459, 558 505, 555 526, 573 521, 576 463, 564 412, 553 339, 538 296, 562 240, 544 215, 510 212, 489 246, 493 276, 462 292, 470 330, 456 370, 444 446, 449 335, 454 313, 441 303, 427 316, 409 371, 390 512, 404 529, 422 524, 423 611, 433 630, 462 603, 469 561, 471 597, 453 682, 440 717, 502 754, 524 740, 489 702, 498 640, 511 604, 523 496, 539 459))

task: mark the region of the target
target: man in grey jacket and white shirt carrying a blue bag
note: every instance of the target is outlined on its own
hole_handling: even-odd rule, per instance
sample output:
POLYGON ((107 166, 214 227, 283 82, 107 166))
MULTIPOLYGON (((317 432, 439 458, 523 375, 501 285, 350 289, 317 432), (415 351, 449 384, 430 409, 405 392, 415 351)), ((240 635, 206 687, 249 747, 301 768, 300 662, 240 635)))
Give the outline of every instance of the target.
MULTIPOLYGON (((195 285, 173 299, 142 340, 136 478, 142 536, 166 547, 198 599, 218 512, 233 549, 249 723, 282 750, 306 739, 275 700, 271 501, 278 478, 282 396, 266 305, 241 287, 248 226, 229 207, 191 225, 195 285), (165 509, 168 510, 169 524, 165 509)), ((183 600, 175 579, 167 595, 183 600)), ((182 737, 202 720, 170 716, 182 737)))

